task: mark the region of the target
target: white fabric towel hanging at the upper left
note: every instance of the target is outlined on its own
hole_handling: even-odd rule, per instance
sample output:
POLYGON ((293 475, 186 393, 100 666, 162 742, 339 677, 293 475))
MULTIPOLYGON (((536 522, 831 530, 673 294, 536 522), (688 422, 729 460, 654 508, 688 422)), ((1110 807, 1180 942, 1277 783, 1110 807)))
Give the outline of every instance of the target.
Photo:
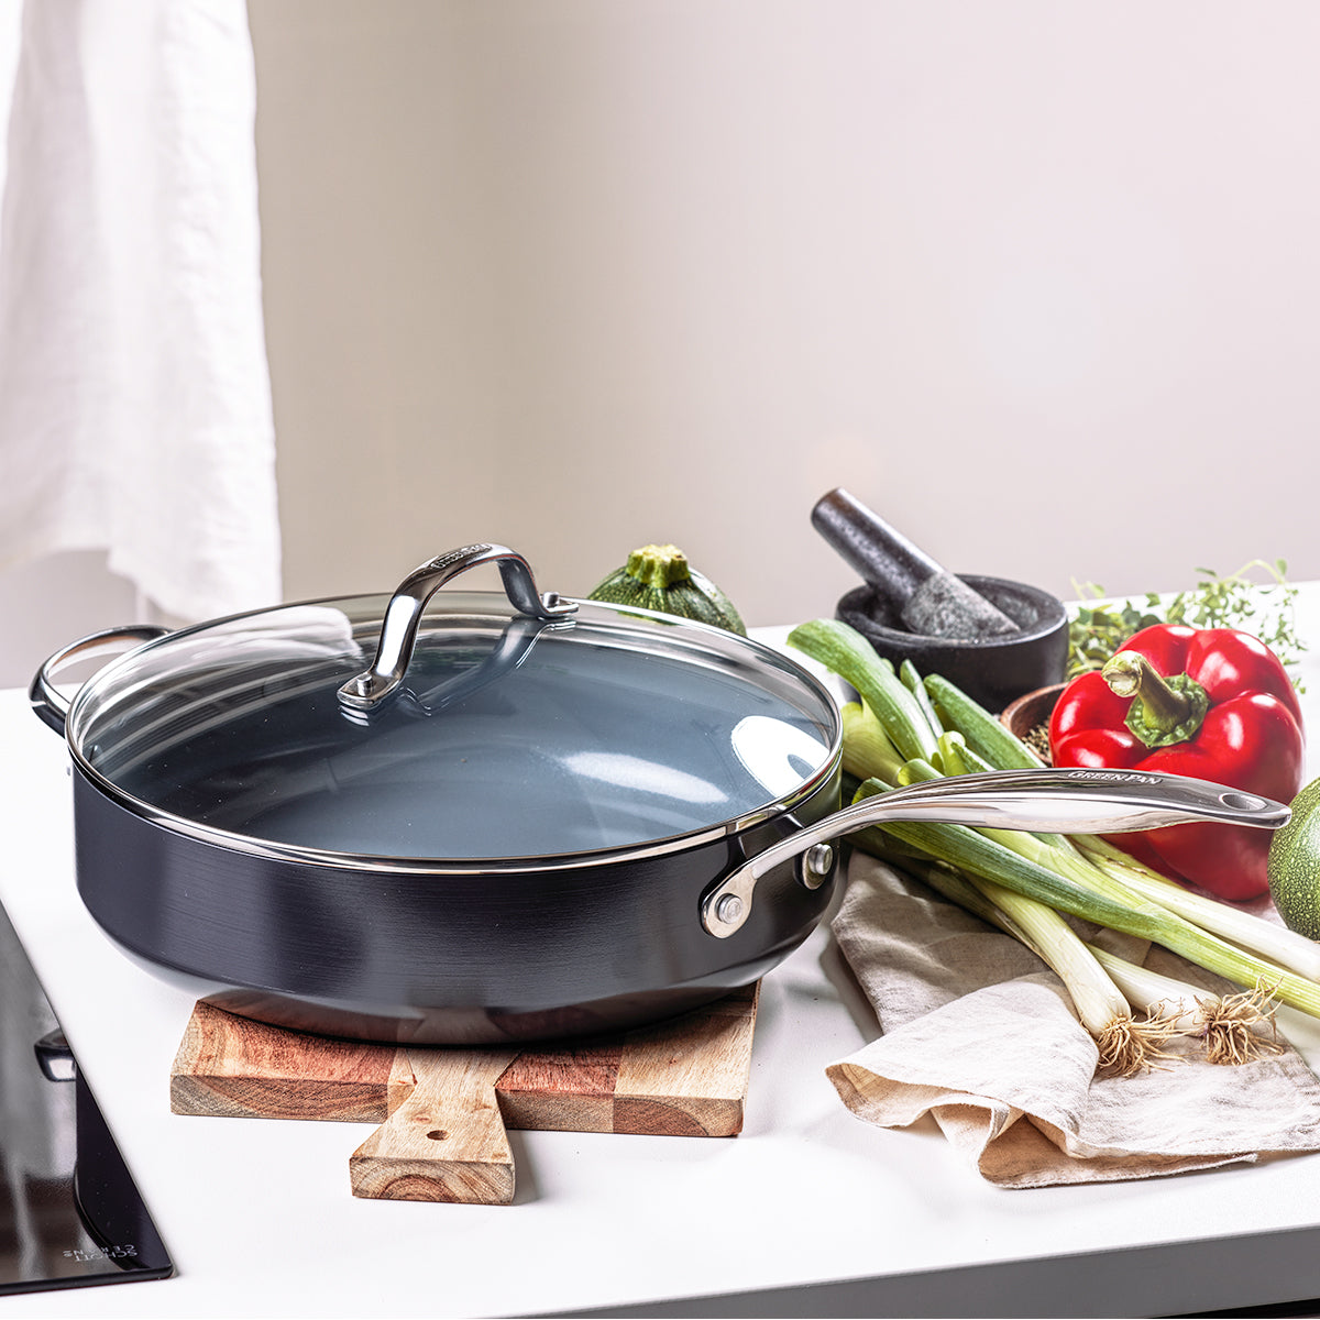
POLYGON ((243 0, 26 0, 0 222, 0 568, 280 599, 243 0))

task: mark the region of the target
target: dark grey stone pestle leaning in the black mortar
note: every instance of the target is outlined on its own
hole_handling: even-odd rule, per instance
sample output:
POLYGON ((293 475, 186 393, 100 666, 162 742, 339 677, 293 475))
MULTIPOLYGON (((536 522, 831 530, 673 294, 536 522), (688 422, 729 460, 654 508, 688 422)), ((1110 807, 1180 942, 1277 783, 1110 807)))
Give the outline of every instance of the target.
POLYGON ((909 632, 974 640, 1019 631, 1002 610, 842 487, 817 502, 812 525, 892 603, 909 632))

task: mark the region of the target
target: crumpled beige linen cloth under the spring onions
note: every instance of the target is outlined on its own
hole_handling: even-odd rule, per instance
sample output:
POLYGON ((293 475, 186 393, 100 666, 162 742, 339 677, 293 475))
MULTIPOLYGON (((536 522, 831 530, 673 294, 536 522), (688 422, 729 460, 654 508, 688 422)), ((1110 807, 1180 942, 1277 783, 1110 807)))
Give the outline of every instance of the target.
MULTIPOLYGON (((841 1098, 883 1127, 931 1114, 991 1183, 1152 1177, 1320 1150, 1320 1081, 1291 1047, 1230 1067, 1179 1038, 1167 1047, 1176 1061, 1097 1077, 1094 1043, 1034 953, 862 853, 834 935, 884 1032, 828 1069, 841 1098)), ((1133 961, 1148 949, 1156 970, 1234 989, 1117 939, 1133 961)))

